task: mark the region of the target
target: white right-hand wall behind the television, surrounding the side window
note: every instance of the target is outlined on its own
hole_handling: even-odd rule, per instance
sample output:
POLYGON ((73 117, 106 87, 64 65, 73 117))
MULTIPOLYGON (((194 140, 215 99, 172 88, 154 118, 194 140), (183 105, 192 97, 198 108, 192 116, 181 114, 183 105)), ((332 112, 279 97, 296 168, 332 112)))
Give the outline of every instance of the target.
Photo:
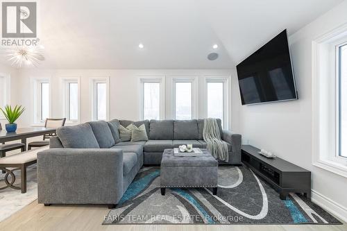
MULTIPOLYGON (((312 171, 313 200, 347 221, 347 178, 312 165, 312 40, 347 23, 347 1, 289 37, 298 101, 240 106, 244 143, 312 171)), ((333 78, 333 76, 332 76, 333 78)))

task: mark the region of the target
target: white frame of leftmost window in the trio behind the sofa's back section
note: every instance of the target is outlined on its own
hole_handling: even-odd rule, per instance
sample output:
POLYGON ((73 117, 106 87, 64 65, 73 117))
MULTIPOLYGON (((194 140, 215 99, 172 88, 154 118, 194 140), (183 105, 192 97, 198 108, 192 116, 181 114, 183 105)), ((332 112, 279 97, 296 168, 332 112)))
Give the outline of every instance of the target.
POLYGON ((144 120, 144 83, 159 83, 159 119, 165 119, 165 76, 139 76, 139 119, 144 120))

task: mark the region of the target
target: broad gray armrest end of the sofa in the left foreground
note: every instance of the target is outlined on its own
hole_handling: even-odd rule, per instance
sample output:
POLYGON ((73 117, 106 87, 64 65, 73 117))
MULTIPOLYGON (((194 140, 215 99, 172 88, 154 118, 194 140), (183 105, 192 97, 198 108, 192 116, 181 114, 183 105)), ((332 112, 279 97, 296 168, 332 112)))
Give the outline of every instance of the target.
POLYGON ((123 180, 121 149, 51 148, 37 153, 39 203, 117 204, 123 180))

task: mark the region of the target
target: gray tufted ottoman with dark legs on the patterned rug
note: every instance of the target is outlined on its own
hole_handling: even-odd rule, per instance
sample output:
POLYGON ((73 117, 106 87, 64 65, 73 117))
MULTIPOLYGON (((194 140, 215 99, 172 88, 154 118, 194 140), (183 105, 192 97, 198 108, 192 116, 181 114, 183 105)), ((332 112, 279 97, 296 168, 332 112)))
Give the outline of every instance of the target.
POLYGON ((165 149, 160 164, 160 188, 165 195, 167 187, 212 187, 217 194, 218 162, 206 150, 198 157, 176 157, 174 149, 165 149))

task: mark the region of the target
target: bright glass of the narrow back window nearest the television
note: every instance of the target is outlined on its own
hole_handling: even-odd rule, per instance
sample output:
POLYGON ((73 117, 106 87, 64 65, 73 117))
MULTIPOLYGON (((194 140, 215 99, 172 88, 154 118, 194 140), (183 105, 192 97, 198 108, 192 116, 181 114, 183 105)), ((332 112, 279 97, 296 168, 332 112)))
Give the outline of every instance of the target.
POLYGON ((223 124, 223 82, 208 83, 208 117, 221 119, 223 124))

